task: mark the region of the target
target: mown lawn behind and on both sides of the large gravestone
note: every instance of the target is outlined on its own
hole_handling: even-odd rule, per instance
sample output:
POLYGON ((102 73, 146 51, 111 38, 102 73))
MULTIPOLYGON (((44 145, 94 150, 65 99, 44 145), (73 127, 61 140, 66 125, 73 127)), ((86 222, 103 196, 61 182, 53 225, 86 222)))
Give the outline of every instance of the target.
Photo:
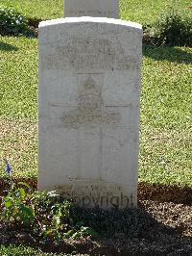
MULTIPOLYGON (((148 23, 166 5, 138 2, 122 0, 122 18, 148 23)), ((38 18, 62 13, 59 0, 2 3, 38 18)), ((144 46, 143 54, 139 179, 192 187, 192 48, 144 46)), ((15 176, 36 177, 37 39, 1 37, 0 73, 0 156, 9 159, 15 176)))

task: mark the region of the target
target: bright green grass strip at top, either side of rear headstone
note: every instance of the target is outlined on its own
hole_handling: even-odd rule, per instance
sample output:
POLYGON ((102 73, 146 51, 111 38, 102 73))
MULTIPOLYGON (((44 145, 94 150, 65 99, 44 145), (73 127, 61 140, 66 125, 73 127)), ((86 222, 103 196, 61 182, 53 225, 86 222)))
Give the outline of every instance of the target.
MULTIPOLYGON (((51 19, 63 16, 63 0, 1 0, 1 5, 14 7, 28 17, 51 19)), ((120 17, 148 24, 156 20, 159 13, 174 5, 182 13, 191 13, 187 6, 190 0, 120 0, 120 17)))

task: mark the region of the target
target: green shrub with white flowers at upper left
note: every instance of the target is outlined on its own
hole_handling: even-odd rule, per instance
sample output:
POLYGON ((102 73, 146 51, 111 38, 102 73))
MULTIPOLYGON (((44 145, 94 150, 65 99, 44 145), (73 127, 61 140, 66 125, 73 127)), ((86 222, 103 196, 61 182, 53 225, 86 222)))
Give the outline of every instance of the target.
POLYGON ((13 8, 0 7, 0 35, 30 36, 28 20, 13 8))

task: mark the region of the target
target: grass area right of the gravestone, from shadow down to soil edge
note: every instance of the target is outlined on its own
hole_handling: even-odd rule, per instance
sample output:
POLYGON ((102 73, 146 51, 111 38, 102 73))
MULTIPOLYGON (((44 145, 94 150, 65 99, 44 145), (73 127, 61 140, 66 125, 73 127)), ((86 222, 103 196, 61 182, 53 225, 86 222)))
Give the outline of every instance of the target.
POLYGON ((141 180, 192 186, 192 49, 144 49, 141 180))

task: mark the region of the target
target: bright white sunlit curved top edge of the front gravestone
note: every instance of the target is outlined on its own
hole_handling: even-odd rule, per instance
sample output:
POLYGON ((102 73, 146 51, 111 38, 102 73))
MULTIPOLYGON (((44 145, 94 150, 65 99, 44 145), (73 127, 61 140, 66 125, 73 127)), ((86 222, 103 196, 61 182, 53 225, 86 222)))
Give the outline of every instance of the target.
POLYGON ((108 17, 90 17, 90 16, 82 16, 82 17, 65 17, 65 18, 57 18, 51 19, 46 21, 41 21, 38 25, 39 28, 52 26, 52 25, 59 25, 59 24, 66 24, 66 23, 85 23, 85 22, 92 22, 92 23, 107 23, 113 25, 122 25, 126 27, 132 27, 142 31, 142 25, 132 21, 126 21, 122 19, 115 19, 115 18, 108 18, 108 17))

